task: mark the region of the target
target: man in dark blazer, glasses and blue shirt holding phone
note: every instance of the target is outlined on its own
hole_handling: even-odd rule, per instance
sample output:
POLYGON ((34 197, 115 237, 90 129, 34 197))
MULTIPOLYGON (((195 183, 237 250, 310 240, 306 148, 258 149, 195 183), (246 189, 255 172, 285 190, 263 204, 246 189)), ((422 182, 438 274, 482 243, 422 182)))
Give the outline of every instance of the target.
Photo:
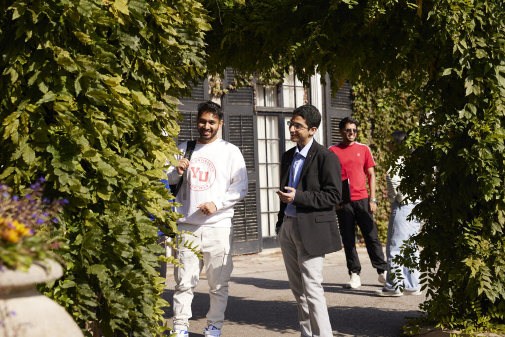
POLYGON ((276 232, 298 306, 302 336, 332 336, 323 281, 324 255, 342 249, 335 220, 340 203, 340 162, 312 137, 321 123, 316 107, 304 105, 288 122, 296 147, 281 160, 281 200, 276 232))

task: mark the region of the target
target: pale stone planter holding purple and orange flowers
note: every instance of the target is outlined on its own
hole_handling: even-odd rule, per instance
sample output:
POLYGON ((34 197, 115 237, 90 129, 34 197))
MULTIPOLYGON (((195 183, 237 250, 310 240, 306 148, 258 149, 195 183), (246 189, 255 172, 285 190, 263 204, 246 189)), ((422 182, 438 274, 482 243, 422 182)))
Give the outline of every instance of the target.
POLYGON ((52 260, 35 261, 28 272, 0 270, 0 336, 83 336, 67 311, 35 288, 62 275, 61 265, 52 260))

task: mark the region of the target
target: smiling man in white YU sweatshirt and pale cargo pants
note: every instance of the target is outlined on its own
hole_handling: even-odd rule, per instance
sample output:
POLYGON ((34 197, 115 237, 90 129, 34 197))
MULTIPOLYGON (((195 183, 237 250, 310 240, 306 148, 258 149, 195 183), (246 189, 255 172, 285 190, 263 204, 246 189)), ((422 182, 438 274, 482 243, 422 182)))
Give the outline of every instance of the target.
MULTIPOLYGON (((178 166, 168 171, 169 183, 176 184, 187 170, 187 183, 175 199, 182 205, 176 209, 182 215, 177 219, 177 229, 184 231, 176 251, 182 266, 174 270, 177 285, 172 333, 176 332, 177 337, 188 337, 193 289, 204 266, 210 286, 204 335, 221 335, 233 270, 233 206, 247 194, 247 170, 240 150, 217 136, 223 125, 221 106, 212 101, 200 103, 196 123, 200 137, 190 160, 176 156, 178 166), (187 248, 191 242, 192 247, 198 246, 203 260, 187 248)), ((187 141, 179 146, 183 153, 186 148, 187 141)))

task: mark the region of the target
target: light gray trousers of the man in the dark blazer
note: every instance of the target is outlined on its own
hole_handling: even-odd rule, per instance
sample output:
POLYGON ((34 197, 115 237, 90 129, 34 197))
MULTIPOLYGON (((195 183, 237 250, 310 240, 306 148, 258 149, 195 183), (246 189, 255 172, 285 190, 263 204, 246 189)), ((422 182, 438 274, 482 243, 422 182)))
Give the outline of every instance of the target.
POLYGON ((324 297, 324 255, 311 256, 300 239, 296 218, 284 216, 279 231, 279 244, 286 266, 289 285, 298 307, 301 336, 333 336, 324 297))

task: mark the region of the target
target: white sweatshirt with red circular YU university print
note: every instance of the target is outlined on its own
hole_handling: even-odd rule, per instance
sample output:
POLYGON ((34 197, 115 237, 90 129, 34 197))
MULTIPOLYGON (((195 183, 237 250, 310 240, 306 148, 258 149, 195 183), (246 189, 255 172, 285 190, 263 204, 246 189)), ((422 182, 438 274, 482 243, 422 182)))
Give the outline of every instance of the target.
MULTIPOLYGON (((179 145, 186 153, 187 141, 179 145)), ((180 160, 183 156, 177 155, 180 160)), ((168 170, 168 181, 176 184, 182 175, 177 167, 168 170)), ((231 227, 233 206, 247 194, 247 169, 240 150, 221 138, 209 144, 198 144, 194 148, 187 168, 186 186, 181 186, 176 202, 182 204, 176 211, 182 214, 177 223, 211 227, 231 227), (186 200, 183 199, 186 188, 186 200), (205 215, 197 206, 213 202, 217 211, 205 215)))

